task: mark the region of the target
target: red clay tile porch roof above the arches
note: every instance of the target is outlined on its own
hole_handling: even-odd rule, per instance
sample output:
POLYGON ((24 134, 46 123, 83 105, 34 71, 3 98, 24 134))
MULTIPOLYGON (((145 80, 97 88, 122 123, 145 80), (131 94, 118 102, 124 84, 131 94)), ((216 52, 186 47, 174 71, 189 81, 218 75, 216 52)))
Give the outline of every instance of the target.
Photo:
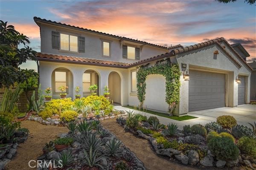
POLYGON ((99 59, 89 59, 83 57, 72 57, 72 56, 62 56, 62 55, 53 55, 53 54, 44 54, 38 53, 37 59, 39 61, 52 61, 52 62, 71 62, 74 64, 87 64, 87 65, 98 65, 98 66, 107 66, 107 67, 117 67, 124 68, 128 63, 124 62, 115 62, 115 61, 106 61, 99 59))

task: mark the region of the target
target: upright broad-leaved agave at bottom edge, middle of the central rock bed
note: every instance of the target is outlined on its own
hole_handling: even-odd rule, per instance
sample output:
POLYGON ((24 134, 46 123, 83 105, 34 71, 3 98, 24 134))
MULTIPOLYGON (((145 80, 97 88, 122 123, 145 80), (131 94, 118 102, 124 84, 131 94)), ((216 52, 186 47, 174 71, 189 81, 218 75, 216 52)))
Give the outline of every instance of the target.
POLYGON ((99 164, 98 162, 105 158, 105 156, 98 156, 98 150, 99 148, 93 150, 92 147, 90 147, 88 152, 87 150, 84 150, 84 160, 85 164, 87 164, 88 167, 98 166, 101 169, 103 169, 102 165, 99 164))

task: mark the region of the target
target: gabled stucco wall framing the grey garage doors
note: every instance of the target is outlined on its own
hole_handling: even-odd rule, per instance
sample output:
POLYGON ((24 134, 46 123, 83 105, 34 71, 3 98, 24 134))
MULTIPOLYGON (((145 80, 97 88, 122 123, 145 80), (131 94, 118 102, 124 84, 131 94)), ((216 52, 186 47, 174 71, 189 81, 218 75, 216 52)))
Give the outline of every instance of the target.
MULTIPOLYGON (((228 51, 228 50, 227 50, 228 51)), ((246 68, 244 63, 242 63, 235 54, 230 54, 242 65, 238 68, 234 62, 227 57, 226 54, 216 45, 209 45, 198 50, 183 53, 177 55, 177 62, 181 67, 181 63, 187 64, 187 68, 202 70, 202 71, 213 71, 226 74, 226 106, 234 107, 238 105, 238 84, 236 83, 236 76, 243 75, 246 76, 246 103, 250 100, 250 70, 246 68), (218 50, 219 54, 217 59, 213 59, 213 52, 218 50)), ((180 71, 181 68, 180 68, 180 71)), ((175 113, 177 115, 188 113, 189 106, 189 82, 184 81, 183 76, 180 77, 181 87, 180 87, 180 103, 175 113)))

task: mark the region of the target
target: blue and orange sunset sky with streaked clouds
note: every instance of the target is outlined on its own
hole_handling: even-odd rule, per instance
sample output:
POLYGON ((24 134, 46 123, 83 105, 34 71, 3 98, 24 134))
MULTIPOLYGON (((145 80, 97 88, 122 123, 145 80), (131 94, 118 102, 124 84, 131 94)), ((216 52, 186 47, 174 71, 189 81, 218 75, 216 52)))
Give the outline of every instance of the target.
POLYGON ((238 1, 0 0, 0 20, 28 36, 36 51, 40 33, 34 16, 166 46, 224 37, 244 45, 251 62, 256 59, 256 8, 238 1))

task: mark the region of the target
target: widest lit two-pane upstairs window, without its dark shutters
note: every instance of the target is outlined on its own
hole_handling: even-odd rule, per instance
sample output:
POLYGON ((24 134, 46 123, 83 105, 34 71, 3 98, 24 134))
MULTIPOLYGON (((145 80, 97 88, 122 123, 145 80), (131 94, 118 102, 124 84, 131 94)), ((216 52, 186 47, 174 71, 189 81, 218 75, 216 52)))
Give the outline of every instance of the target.
POLYGON ((77 36, 61 34, 61 50, 78 51, 77 36))

